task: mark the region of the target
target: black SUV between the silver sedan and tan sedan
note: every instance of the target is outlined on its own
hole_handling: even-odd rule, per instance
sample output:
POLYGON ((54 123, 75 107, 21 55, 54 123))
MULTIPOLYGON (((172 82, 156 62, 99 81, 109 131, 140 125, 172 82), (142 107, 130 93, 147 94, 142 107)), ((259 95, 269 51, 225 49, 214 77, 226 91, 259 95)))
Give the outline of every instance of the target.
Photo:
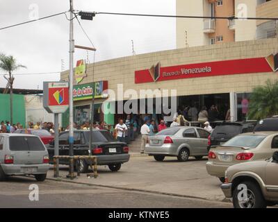
POLYGON ((221 146, 238 134, 253 132, 255 126, 256 121, 219 123, 208 137, 208 151, 211 146, 221 146))

